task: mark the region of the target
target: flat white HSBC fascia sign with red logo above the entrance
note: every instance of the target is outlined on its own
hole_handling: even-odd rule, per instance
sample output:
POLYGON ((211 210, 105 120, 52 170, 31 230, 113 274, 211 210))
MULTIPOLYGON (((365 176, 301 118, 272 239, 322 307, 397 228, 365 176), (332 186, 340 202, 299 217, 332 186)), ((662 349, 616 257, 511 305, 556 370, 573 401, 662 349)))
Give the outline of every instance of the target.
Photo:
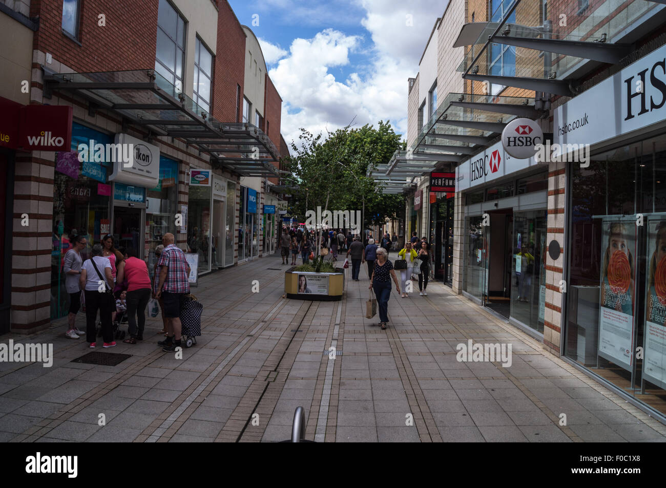
POLYGON ((523 159, 515 158, 503 148, 501 141, 496 142, 483 152, 465 160, 456 168, 456 192, 536 165, 537 161, 534 156, 523 159))

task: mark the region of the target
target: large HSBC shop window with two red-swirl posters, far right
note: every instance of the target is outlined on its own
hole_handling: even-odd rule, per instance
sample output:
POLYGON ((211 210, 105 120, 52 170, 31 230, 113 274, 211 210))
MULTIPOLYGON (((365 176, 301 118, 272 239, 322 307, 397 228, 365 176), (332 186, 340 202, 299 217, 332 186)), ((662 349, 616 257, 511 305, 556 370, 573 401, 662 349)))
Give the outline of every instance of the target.
POLYGON ((570 172, 564 354, 666 413, 666 140, 570 172))

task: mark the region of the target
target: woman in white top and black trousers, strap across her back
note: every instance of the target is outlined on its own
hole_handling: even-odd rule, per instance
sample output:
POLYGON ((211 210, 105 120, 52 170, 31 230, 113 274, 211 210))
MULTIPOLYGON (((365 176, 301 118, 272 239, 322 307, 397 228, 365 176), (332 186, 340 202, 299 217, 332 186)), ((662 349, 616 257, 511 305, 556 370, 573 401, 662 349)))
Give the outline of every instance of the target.
POLYGON ((97 309, 99 309, 104 347, 113 348, 116 342, 113 340, 111 314, 115 308, 115 301, 113 294, 107 292, 107 290, 113 290, 113 274, 111 274, 111 262, 109 258, 102 256, 100 244, 93 246, 93 257, 83 263, 79 284, 85 293, 87 342, 90 343, 91 348, 97 346, 95 321, 97 320, 97 309))

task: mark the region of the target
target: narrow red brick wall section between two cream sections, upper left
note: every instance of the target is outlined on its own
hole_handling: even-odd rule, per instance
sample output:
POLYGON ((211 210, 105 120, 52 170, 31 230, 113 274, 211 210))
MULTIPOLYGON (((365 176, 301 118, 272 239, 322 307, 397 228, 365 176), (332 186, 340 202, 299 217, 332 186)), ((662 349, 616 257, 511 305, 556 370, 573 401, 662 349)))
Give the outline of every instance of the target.
POLYGON ((226 0, 220 1, 218 8, 212 115, 221 122, 236 122, 241 120, 239 112, 242 111, 245 33, 226 0), (238 85, 240 85, 240 107, 237 111, 238 85))

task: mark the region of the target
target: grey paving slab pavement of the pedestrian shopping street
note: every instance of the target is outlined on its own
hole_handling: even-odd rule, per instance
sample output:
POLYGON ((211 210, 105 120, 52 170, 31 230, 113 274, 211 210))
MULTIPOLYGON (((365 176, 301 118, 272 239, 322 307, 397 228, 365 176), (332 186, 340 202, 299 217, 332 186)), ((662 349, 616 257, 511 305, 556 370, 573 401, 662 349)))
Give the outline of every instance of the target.
POLYGON ((427 297, 394 289, 382 331, 364 317, 366 267, 340 302, 283 298, 286 268, 270 256, 201 277, 202 336, 182 359, 157 347, 151 318, 143 342, 108 351, 132 355, 117 366, 71 362, 90 350, 63 320, 1 336, 53 344, 54 360, 0 363, 0 441, 283 441, 298 406, 306 439, 326 442, 666 440, 665 425, 440 283, 427 297), (511 344, 511 366, 458 362, 470 339, 511 344))

